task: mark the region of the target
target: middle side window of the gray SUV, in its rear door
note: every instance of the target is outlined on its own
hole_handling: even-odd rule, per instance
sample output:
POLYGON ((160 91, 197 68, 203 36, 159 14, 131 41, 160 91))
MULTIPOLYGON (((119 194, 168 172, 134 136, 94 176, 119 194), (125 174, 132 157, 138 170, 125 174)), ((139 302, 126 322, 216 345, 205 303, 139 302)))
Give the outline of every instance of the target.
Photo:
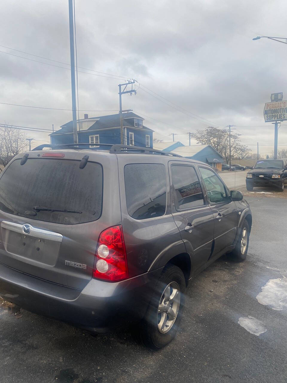
POLYGON ((201 185, 194 167, 171 165, 171 178, 176 194, 176 208, 188 209, 204 205, 201 185))

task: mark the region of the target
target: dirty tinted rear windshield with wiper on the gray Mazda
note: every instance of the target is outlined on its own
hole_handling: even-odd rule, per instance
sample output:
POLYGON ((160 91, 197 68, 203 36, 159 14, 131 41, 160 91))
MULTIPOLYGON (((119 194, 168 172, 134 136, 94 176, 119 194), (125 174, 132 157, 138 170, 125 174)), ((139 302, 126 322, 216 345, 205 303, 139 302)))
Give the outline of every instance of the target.
POLYGON ((102 209, 103 170, 92 162, 84 169, 79 165, 62 159, 28 159, 24 165, 13 161, 0 178, 0 209, 60 224, 95 221, 102 209))

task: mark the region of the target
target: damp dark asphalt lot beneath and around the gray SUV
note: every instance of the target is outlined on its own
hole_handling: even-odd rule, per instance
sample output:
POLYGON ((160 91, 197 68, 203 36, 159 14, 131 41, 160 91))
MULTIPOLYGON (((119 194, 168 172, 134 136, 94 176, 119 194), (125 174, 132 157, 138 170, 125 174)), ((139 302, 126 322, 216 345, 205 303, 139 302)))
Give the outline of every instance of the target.
MULTIPOLYGON (((287 276, 287 200, 247 198, 254 223, 248 258, 236 263, 223 256, 191 281, 181 329, 167 347, 153 352, 128 331, 92 337, 27 311, 17 319, 0 309, 1 381, 285 383, 287 310, 256 296, 270 279, 287 276), (266 331, 256 336, 238 324, 254 320, 249 316, 266 331)), ((286 291, 282 297, 287 304, 286 291)))

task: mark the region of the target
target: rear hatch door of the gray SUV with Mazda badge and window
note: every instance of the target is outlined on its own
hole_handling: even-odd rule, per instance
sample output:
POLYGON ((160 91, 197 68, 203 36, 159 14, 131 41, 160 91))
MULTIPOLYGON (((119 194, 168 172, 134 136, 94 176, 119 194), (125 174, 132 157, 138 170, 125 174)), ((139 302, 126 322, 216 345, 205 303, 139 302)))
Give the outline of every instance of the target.
MULTIPOLYGON (((53 151, 49 151, 51 154, 53 151)), ((65 152, 65 151, 63 151, 65 152)), ((82 152, 64 158, 13 160, 0 178, 0 262, 21 272, 82 289, 91 279, 100 232, 121 223, 114 155, 96 155, 80 169, 82 152), (103 211, 103 168, 113 217, 103 211), (108 216, 107 216, 108 214, 108 216)), ((70 155, 69 155, 70 154, 70 155)), ((91 157, 91 156, 90 156, 91 157)))

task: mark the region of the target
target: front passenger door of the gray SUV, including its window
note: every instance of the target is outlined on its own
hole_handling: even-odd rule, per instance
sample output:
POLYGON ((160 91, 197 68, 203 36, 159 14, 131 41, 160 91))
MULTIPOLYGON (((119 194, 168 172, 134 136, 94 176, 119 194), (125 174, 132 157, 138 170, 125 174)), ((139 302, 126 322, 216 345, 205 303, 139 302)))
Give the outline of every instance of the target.
POLYGON ((214 251, 212 256, 231 246, 238 226, 238 210, 223 181, 213 170, 199 166, 210 208, 214 215, 214 251))

